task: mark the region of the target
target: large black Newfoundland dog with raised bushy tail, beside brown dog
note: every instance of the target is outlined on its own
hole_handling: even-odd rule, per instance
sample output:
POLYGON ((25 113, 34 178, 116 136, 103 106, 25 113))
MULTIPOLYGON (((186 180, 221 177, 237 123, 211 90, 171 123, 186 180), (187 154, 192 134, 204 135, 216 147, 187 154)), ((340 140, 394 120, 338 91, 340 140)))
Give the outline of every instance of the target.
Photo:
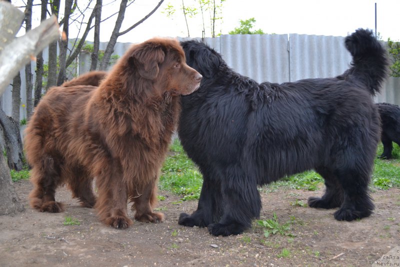
POLYGON ((181 97, 178 133, 199 166, 197 210, 178 223, 239 234, 259 217, 257 185, 315 169, 325 180, 310 207, 335 208, 337 220, 371 214, 368 182, 380 138, 372 97, 387 72, 385 49, 369 30, 345 38, 351 67, 333 78, 282 84, 256 81, 230 69, 206 44, 181 42, 187 64, 203 75, 181 97))

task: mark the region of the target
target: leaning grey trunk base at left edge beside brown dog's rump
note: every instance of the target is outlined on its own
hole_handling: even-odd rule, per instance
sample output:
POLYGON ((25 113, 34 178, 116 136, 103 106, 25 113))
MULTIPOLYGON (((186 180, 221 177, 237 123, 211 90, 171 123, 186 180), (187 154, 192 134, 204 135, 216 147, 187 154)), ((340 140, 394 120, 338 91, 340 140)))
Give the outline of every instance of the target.
POLYGON ((21 170, 23 168, 23 150, 18 122, 7 116, 4 111, 0 109, 0 124, 4 134, 7 162, 9 168, 15 170, 21 170))

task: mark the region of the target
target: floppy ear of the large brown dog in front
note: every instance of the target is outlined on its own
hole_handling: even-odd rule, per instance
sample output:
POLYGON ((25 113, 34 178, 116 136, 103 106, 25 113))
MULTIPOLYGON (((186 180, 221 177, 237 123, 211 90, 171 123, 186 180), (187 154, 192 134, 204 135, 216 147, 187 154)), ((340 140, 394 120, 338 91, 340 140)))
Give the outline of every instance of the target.
POLYGON ((142 43, 132 53, 134 64, 143 78, 155 79, 158 75, 158 64, 164 61, 162 48, 155 43, 142 43))

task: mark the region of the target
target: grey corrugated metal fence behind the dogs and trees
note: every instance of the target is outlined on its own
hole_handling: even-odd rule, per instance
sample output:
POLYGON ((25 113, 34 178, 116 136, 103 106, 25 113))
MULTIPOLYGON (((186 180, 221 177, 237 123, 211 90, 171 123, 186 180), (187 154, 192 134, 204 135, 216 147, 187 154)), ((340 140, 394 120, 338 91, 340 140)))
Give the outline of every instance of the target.
MULTIPOLYGON (((184 40, 187 38, 179 38, 184 40)), ((222 54, 235 71, 258 82, 285 82, 303 78, 332 77, 346 70, 351 56, 345 49, 343 37, 303 34, 238 34, 204 38, 209 46, 222 54)), ((90 42, 88 42, 90 43, 90 42)), ((130 43, 116 43, 114 54, 122 55, 130 43)), ((106 42, 100 43, 104 50, 106 42)), ((43 53, 44 60, 47 51, 43 53)), ((32 72, 35 64, 32 62, 32 72)), ((77 60, 77 72, 84 73, 90 67, 90 54, 82 52, 77 60)), ((21 70, 21 118, 25 110, 25 79, 21 70)), ((1 99, 2 109, 11 113, 11 89, 1 99)), ((400 78, 390 77, 375 97, 376 102, 400 105, 400 78)))

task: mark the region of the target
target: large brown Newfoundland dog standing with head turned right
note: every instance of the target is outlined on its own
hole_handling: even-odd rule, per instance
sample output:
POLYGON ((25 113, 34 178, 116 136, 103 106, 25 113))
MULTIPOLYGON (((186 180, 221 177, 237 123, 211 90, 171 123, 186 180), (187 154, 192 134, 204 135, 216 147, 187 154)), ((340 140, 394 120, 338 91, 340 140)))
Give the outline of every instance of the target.
POLYGON ((177 40, 153 38, 133 45, 98 87, 51 88, 26 128, 30 205, 62 211, 54 193, 65 183, 107 225, 132 223, 127 201, 135 219, 162 221, 163 214, 152 211, 159 169, 177 124, 179 95, 196 90, 200 80, 177 40))

